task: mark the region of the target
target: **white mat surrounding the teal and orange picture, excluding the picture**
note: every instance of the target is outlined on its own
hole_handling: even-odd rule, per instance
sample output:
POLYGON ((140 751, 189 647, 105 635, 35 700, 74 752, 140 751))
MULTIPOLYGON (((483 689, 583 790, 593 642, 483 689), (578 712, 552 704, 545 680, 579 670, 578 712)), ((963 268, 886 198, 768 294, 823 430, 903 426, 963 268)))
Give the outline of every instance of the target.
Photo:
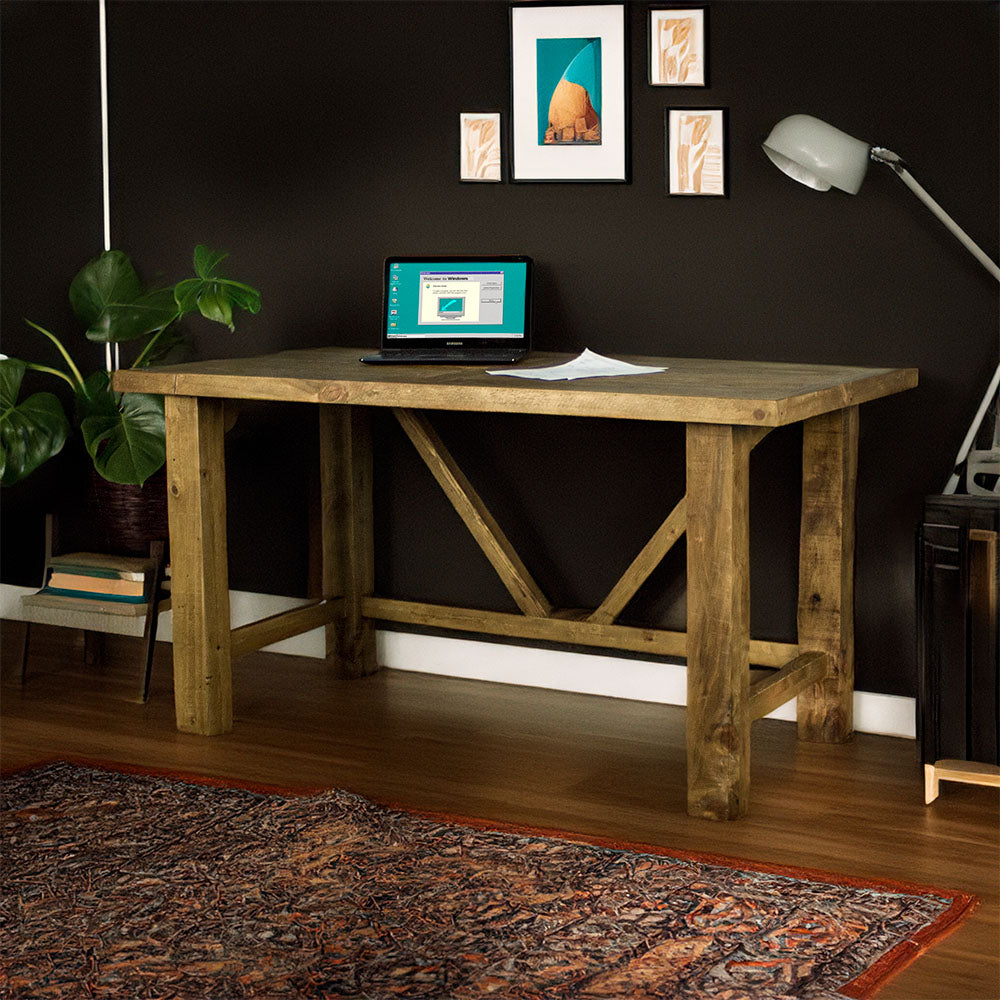
POLYGON ((625 18, 621 4, 511 10, 516 180, 625 180, 625 18), (538 38, 601 39, 601 144, 538 144, 538 38))

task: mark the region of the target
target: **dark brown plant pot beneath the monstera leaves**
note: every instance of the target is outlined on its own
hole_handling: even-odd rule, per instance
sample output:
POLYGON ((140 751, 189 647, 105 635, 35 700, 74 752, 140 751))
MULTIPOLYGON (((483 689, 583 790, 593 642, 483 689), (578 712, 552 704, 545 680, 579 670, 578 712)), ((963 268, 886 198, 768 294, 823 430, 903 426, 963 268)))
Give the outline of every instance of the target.
POLYGON ((166 468, 142 486, 109 483, 94 471, 88 501, 94 529, 107 551, 144 556, 150 542, 167 541, 166 468))

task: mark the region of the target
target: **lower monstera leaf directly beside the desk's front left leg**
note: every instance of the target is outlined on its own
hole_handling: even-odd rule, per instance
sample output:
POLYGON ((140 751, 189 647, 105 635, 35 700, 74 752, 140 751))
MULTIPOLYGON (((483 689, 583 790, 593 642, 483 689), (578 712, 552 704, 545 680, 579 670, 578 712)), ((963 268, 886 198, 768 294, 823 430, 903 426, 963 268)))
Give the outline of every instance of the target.
POLYGON ((166 461, 163 397, 112 391, 95 372, 78 396, 80 431, 94 468, 112 483, 142 485, 166 461))

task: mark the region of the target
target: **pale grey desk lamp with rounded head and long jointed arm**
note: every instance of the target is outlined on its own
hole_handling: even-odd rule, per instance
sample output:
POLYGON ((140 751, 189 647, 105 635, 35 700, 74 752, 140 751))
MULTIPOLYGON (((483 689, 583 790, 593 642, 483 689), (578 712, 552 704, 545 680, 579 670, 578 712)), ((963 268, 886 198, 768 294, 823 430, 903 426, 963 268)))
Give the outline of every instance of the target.
MULTIPOLYGON (((968 233, 917 183, 903 160, 891 150, 871 146, 811 115, 783 118, 771 130, 763 145, 764 152, 780 170, 816 191, 829 191, 831 187, 835 187, 848 194, 857 194, 869 161, 884 163, 940 219, 966 250, 1000 281, 1000 267, 986 256, 968 233)), ((955 470, 944 489, 945 493, 954 493, 958 486, 958 469, 969 454, 998 383, 1000 365, 997 366, 972 426, 959 449, 955 470)), ((967 474, 966 480, 971 480, 971 475, 967 474)), ((997 486, 1000 488, 1000 480, 997 486)))

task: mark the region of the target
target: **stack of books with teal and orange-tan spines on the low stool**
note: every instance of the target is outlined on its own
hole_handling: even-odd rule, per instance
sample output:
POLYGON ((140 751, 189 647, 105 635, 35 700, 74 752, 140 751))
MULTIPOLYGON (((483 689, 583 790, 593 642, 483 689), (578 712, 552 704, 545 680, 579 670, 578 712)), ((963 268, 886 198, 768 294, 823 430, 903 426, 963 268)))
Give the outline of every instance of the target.
POLYGON ((149 607, 152 577, 153 563, 148 559, 71 552, 49 560, 45 585, 23 601, 42 607, 144 615, 149 607))

